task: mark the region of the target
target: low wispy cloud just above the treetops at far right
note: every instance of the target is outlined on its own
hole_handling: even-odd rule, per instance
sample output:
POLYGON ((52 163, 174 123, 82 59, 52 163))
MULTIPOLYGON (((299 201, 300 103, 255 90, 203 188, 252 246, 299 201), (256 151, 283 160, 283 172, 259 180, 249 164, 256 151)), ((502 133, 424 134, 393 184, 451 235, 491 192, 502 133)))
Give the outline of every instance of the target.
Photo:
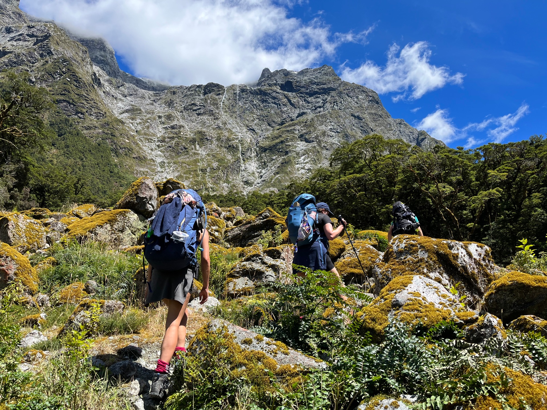
POLYGON ((449 117, 448 110, 438 108, 437 111, 426 116, 416 124, 420 130, 425 130, 433 138, 442 140, 445 143, 451 143, 455 140, 467 138, 465 147, 476 147, 479 144, 487 142, 501 143, 510 134, 519 130, 515 125, 529 112, 529 106, 522 103, 521 106, 512 114, 500 117, 487 118, 482 122, 470 122, 463 128, 458 128, 453 124, 449 117), (484 132, 485 137, 476 137, 469 135, 470 132, 484 132))

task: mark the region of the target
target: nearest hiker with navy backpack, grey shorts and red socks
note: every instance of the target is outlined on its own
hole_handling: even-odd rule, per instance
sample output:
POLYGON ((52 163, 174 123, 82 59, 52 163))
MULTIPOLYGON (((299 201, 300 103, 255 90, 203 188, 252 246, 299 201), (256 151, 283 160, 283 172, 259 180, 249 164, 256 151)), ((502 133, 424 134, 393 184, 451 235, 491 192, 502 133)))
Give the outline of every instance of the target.
POLYGON ((160 359, 150 388, 150 397, 162 399, 168 385, 169 362, 174 354, 186 352, 188 302, 194 278, 199 275, 197 250, 203 288, 200 303, 209 297, 209 234, 207 212, 201 197, 191 189, 179 189, 165 196, 144 241, 148 260, 146 304, 163 301, 167 305, 165 336, 160 359))

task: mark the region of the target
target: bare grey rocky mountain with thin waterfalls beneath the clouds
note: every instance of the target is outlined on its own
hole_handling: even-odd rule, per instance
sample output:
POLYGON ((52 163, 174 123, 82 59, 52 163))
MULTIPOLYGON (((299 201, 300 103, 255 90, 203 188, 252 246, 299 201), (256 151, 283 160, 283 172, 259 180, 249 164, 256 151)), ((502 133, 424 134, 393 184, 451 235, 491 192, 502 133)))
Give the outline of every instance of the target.
POLYGON ((255 84, 166 86, 120 70, 114 50, 0 0, 0 69, 26 70, 63 113, 135 174, 211 191, 276 189, 369 133, 442 142, 393 119, 373 90, 333 68, 265 68, 255 84))

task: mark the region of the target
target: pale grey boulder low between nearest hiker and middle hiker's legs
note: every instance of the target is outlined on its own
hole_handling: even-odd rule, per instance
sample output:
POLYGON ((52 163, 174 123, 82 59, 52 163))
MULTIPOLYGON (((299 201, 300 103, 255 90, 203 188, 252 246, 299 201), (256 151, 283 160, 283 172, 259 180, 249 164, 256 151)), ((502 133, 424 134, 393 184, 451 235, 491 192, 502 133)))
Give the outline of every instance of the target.
POLYGON ((282 259, 283 249, 268 248, 267 251, 272 256, 277 256, 279 251, 280 258, 274 259, 263 251, 257 251, 236 263, 226 275, 224 289, 228 296, 249 295, 258 284, 275 282, 282 274, 289 272, 290 263, 282 259))

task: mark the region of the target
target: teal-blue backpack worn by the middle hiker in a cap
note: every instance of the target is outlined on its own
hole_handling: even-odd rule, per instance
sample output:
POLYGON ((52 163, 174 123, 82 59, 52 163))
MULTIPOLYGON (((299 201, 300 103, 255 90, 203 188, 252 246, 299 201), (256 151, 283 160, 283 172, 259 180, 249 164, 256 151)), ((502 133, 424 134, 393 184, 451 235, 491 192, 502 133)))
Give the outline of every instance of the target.
POLYGON ((290 242, 297 247, 309 245, 319 238, 315 202, 315 196, 302 194, 294 198, 290 205, 287 215, 287 229, 290 242), (315 218, 310 215, 312 212, 316 213, 315 218))

